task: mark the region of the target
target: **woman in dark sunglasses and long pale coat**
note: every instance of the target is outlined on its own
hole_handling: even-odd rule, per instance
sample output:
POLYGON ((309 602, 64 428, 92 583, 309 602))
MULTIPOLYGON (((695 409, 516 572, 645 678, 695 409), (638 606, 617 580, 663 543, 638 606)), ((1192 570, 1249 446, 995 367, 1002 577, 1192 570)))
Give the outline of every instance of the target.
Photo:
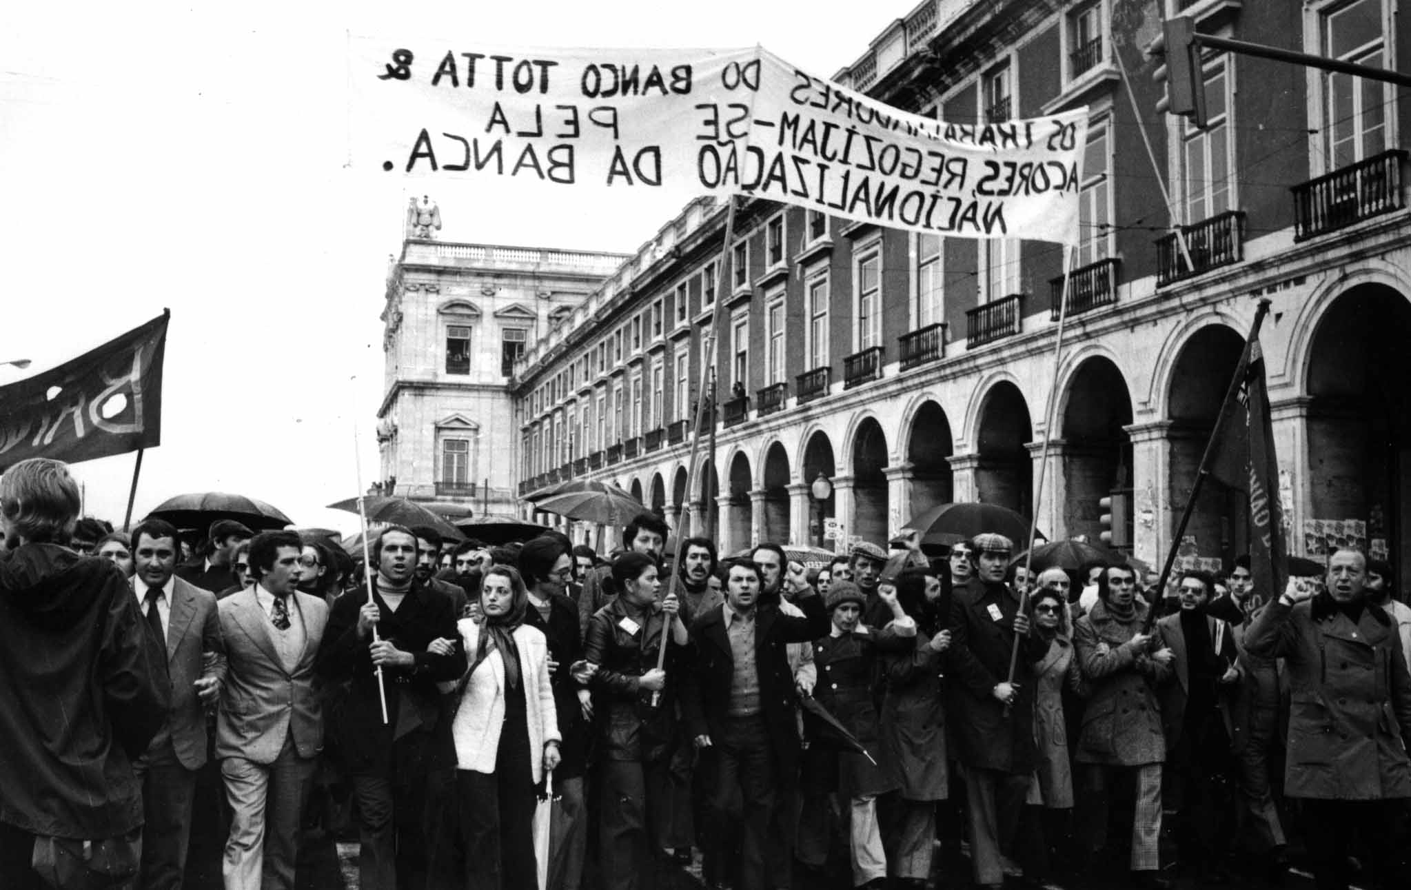
MULTIPOLYGON (((1044 573, 1047 574, 1047 573, 1044 573)), ((1041 575, 1043 577, 1043 575, 1041 575)), ((1064 718, 1064 694, 1084 695, 1082 670, 1074 657, 1072 630, 1068 625, 1068 599, 1064 590, 1040 587, 1029 601, 1029 622, 1048 652, 1034 664, 1034 736, 1038 742, 1038 769, 1029 790, 1029 805, 1043 807, 1043 835, 1047 849, 1068 851, 1072 814, 1072 762, 1068 759, 1068 724, 1064 718)), ((1029 811, 1029 815, 1034 815, 1029 811)), ((1047 856, 1046 856, 1047 859, 1047 856)), ((1048 863, 1038 867, 1047 872, 1048 863)), ((1027 874, 1026 874, 1027 877, 1027 874)))

